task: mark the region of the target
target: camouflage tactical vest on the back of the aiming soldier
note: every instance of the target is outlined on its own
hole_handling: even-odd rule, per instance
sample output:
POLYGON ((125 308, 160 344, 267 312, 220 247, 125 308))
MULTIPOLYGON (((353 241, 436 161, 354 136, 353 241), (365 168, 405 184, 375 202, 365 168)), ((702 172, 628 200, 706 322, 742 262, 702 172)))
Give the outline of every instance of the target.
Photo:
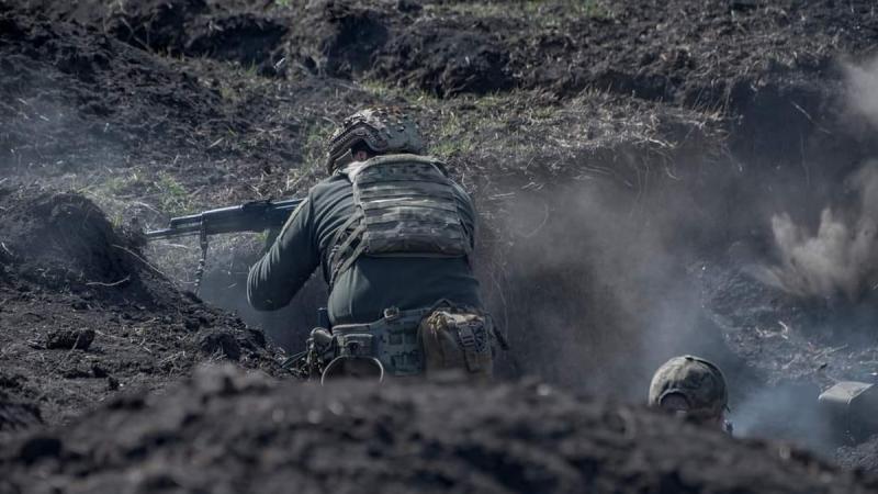
POLYGON ((354 211, 337 231, 329 285, 360 256, 468 257, 454 184, 441 161, 418 155, 376 156, 338 171, 353 188, 354 211))

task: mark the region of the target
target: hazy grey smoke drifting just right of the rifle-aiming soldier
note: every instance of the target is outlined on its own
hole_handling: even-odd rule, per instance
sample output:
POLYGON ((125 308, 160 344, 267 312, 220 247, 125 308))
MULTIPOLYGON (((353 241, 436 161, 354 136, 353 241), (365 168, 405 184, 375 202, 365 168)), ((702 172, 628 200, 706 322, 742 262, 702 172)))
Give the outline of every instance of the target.
POLYGON ((506 204, 497 216, 510 247, 489 252, 504 263, 482 278, 495 287, 488 305, 507 325, 520 371, 644 402, 652 372, 669 357, 722 351, 695 282, 689 232, 706 218, 678 192, 578 182, 506 204))

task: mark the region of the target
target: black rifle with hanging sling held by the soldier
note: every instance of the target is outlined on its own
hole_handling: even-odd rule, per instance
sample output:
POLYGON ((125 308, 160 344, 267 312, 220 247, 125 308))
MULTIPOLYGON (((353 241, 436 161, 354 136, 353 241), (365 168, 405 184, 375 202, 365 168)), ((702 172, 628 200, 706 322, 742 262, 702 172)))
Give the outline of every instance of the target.
POLYGON ((146 232, 146 238, 147 240, 154 240, 199 236, 201 260, 195 271, 195 291, 198 291, 201 285, 201 278, 204 274, 204 266, 207 262, 209 236, 280 228, 303 201, 304 199, 250 201, 188 216, 172 217, 167 228, 146 232))

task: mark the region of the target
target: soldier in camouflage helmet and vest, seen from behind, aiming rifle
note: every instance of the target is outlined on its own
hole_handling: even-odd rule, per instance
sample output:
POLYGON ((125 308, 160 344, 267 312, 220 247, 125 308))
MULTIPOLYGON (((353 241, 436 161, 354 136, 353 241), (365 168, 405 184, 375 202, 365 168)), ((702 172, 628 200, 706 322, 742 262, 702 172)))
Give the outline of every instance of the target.
POLYGON ((473 202, 424 156, 417 125, 396 110, 346 119, 317 183, 251 269, 247 297, 285 306, 319 266, 331 328, 308 340, 307 374, 492 374, 491 318, 470 257, 473 202))

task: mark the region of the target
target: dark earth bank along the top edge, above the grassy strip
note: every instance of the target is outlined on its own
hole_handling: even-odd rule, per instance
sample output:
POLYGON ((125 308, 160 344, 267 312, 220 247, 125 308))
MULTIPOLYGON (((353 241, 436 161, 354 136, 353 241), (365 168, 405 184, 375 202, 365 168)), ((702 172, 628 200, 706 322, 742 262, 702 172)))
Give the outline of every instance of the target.
POLYGON ((569 99, 588 89, 724 111, 740 119, 735 147, 770 159, 799 153, 801 136, 834 114, 842 63, 870 56, 878 33, 866 0, 846 9, 832 0, 409 3, 26 4, 134 47, 237 60, 262 75, 304 69, 439 97, 536 89, 569 99))

